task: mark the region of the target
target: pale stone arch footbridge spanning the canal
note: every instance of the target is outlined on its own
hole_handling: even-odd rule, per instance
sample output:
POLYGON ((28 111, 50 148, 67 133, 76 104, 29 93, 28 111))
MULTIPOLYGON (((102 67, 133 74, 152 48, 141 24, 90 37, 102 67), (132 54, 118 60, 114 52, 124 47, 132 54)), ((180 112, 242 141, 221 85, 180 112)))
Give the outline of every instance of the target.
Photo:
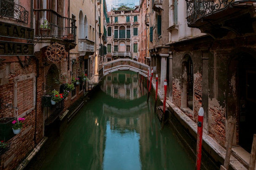
POLYGON ((150 67, 146 64, 130 59, 120 58, 100 64, 99 75, 101 75, 100 79, 102 79, 105 75, 115 71, 130 70, 139 73, 144 77, 148 77, 148 68, 150 67))

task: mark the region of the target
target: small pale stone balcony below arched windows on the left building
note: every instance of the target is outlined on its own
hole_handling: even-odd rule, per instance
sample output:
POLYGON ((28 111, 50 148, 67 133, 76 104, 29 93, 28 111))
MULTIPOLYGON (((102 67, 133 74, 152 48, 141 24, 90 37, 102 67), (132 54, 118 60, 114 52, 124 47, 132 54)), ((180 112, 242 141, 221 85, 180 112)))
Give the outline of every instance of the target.
POLYGON ((80 55, 93 55, 94 42, 87 39, 78 39, 78 52, 80 55))

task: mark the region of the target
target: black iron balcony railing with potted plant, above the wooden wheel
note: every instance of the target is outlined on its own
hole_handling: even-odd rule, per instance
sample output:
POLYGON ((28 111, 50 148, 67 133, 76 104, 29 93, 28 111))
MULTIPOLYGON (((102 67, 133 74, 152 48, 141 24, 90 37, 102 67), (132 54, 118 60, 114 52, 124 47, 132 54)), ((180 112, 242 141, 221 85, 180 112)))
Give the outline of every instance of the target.
POLYGON ((76 20, 59 15, 51 9, 34 9, 36 15, 35 38, 52 37, 76 41, 76 20))

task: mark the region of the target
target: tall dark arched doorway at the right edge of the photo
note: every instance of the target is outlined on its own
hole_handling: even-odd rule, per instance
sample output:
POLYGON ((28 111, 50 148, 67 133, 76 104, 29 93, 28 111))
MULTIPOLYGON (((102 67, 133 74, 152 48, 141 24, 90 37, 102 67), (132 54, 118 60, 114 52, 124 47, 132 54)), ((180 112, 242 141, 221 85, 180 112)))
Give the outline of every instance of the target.
POLYGON ((238 64, 239 75, 239 145, 251 152, 256 133, 256 60, 243 53, 238 64))

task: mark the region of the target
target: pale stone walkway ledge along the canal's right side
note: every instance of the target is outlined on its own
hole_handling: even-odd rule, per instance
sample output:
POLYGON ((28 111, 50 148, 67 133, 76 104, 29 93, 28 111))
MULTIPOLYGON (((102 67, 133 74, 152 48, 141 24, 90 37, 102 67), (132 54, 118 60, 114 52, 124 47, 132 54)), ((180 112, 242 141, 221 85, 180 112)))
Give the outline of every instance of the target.
MULTIPOLYGON (((153 82, 153 89, 154 91, 156 89, 155 82, 153 82)), ((162 103, 164 102, 163 99, 161 100, 161 102, 162 103)), ((195 139, 197 139, 197 128, 198 128, 197 123, 191 120, 191 118, 188 117, 182 110, 180 110, 180 108, 175 106, 169 100, 168 95, 166 97, 166 107, 170 111, 170 114, 173 114, 180 121, 180 124, 182 124, 182 126, 187 128, 191 133, 191 135, 195 137, 195 139)), ((207 133, 205 132, 203 132, 202 140, 203 140, 202 142, 203 148, 207 150, 208 153, 211 153, 210 155, 213 157, 213 159, 216 159, 217 162, 220 161, 221 165, 223 165, 225 156, 226 156, 226 149, 223 148, 220 144, 218 144, 212 137, 207 135, 207 133)), ((248 168, 246 168, 244 165, 249 167, 249 159, 250 159, 250 154, 246 152, 243 148, 241 148, 240 146, 232 146, 230 166, 234 170, 248 170, 248 168), (241 161, 243 163, 241 163, 241 161)))

